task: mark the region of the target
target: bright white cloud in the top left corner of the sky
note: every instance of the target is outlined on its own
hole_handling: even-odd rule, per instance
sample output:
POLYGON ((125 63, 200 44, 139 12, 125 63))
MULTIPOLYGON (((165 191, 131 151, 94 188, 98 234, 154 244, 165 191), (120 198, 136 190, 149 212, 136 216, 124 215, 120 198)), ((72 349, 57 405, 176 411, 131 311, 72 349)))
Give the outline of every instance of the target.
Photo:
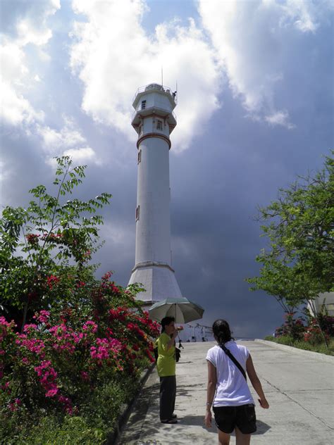
MULTIPOLYGON (((52 32, 47 27, 47 19, 58 8, 60 8, 58 0, 38 3, 19 2, 19 4, 4 2, 1 5, 1 14, 6 26, 0 35, 2 41, 0 115, 9 125, 30 124, 44 119, 44 113, 36 111, 25 97, 31 82, 26 46, 27 44, 43 46, 49 41, 52 32)), ((37 77, 35 75, 35 80, 37 77)))

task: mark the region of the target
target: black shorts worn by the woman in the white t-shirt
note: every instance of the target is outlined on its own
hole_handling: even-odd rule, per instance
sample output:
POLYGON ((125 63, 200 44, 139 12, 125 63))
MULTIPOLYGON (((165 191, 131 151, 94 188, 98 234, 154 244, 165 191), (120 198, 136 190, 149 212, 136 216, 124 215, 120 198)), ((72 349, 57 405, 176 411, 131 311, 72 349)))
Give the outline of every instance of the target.
POLYGON ((240 406, 214 406, 214 420, 217 428, 231 434, 238 427, 242 434, 256 431, 256 415, 253 403, 240 406))

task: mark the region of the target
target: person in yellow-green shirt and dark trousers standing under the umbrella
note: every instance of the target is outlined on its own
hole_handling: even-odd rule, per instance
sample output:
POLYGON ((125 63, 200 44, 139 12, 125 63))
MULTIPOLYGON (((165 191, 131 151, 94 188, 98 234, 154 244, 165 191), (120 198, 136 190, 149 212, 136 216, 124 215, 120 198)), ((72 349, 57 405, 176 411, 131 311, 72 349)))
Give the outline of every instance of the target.
POLYGON ((161 423, 178 423, 175 408, 176 377, 175 377, 175 338, 178 330, 175 318, 165 317, 161 320, 161 335, 156 340, 158 360, 156 369, 160 377, 160 420, 161 423))

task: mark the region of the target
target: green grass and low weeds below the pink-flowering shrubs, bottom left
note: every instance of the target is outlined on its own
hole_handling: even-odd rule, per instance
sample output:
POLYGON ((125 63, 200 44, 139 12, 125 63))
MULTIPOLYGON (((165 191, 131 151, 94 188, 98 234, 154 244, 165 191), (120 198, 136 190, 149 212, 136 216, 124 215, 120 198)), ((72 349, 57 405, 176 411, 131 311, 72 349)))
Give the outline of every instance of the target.
POLYGON ((97 445, 109 442, 123 403, 131 401, 140 382, 122 376, 122 381, 101 385, 87 394, 77 415, 47 413, 42 409, 30 414, 0 408, 0 444, 6 445, 97 445))

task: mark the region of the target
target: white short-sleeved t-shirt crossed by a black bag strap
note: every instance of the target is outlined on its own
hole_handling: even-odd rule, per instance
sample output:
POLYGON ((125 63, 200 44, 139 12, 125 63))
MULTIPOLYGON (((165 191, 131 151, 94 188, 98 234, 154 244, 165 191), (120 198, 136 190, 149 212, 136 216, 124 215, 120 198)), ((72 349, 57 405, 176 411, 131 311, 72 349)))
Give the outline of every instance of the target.
MULTIPOLYGON (((246 372, 248 349, 236 344, 235 341, 228 341, 225 346, 246 372)), ((217 371, 217 386, 213 406, 239 406, 254 403, 245 377, 220 346, 217 345, 209 349, 206 360, 209 360, 217 371)))

